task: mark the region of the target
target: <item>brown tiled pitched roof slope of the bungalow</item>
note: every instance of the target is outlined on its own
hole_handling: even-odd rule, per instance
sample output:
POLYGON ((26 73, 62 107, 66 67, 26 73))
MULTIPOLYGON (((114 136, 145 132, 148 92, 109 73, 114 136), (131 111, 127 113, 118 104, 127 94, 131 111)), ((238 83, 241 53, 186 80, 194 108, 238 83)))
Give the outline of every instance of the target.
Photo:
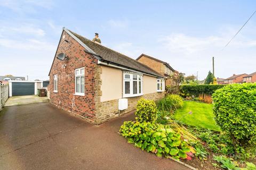
MULTIPOLYGON (((156 77, 163 77, 161 74, 157 73, 150 67, 124 55, 121 53, 116 52, 113 49, 107 48, 105 46, 102 46, 100 44, 94 43, 93 41, 78 35, 77 33, 68 30, 70 33, 72 33, 75 37, 77 37, 79 40, 82 41, 87 47, 89 47, 95 54, 97 54, 100 61, 106 61, 111 64, 115 65, 121 65, 127 68, 130 68, 134 71, 140 71, 143 73, 148 73, 150 75, 154 75, 156 77)), ((90 52, 90 51, 89 51, 90 52)))

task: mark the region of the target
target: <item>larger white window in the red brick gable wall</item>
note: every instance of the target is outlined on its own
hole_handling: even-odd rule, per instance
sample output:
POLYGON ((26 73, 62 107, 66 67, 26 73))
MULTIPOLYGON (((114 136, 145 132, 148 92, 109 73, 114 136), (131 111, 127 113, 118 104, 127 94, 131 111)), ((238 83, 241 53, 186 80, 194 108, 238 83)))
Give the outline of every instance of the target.
POLYGON ((84 96, 84 67, 75 70, 75 95, 84 96))

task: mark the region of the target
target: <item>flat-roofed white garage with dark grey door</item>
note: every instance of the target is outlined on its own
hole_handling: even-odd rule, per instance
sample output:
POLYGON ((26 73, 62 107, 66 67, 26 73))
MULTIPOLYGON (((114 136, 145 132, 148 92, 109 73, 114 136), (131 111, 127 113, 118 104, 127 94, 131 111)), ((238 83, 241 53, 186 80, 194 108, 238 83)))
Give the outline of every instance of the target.
POLYGON ((37 95, 37 89, 43 87, 43 81, 9 81, 9 96, 37 95))

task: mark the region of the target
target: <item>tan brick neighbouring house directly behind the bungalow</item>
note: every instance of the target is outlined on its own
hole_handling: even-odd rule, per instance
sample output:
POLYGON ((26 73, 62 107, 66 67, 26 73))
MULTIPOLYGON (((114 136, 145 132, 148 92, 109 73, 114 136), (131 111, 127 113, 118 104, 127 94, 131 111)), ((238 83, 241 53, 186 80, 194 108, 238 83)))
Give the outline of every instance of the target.
POLYGON ((175 82, 171 79, 171 75, 179 74, 179 72, 175 71, 169 63, 158 60, 157 58, 146 54, 141 54, 136 60, 163 75, 166 79, 166 86, 175 85, 175 82))

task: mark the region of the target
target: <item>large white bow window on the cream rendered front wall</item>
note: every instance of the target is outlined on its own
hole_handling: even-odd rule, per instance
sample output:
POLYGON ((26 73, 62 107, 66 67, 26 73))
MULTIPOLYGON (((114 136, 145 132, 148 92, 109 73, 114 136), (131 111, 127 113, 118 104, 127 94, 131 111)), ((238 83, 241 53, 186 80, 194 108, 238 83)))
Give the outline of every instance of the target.
POLYGON ((135 97, 143 95, 142 75, 137 73, 123 74, 123 97, 135 97))

